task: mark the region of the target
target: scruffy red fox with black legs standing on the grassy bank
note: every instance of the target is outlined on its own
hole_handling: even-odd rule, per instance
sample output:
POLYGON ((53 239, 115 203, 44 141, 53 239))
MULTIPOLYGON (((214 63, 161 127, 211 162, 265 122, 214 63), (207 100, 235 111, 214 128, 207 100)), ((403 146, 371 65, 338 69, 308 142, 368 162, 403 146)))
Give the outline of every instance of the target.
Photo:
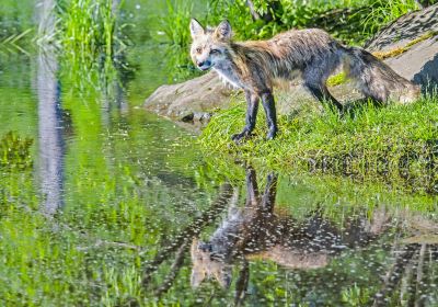
POLYGON ((277 116, 273 96, 276 79, 291 80, 300 76, 306 88, 321 102, 343 111, 343 105, 331 95, 327 78, 341 66, 355 80, 366 98, 387 102, 397 98, 402 103, 414 101, 419 88, 399 76, 388 65, 365 49, 347 47, 319 29, 290 30, 268 41, 232 41, 231 25, 221 22, 216 29, 191 22, 193 38, 191 56, 200 70, 212 68, 226 81, 245 92, 246 125, 234 141, 251 136, 255 127, 258 101, 266 113, 268 134, 277 134, 277 116))

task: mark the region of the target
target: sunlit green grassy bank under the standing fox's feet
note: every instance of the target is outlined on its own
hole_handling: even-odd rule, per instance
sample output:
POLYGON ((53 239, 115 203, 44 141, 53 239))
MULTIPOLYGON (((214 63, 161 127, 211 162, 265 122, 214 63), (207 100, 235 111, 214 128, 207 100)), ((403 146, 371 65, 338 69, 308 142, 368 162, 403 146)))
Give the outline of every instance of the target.
MULTIPOLYGON (((207 155, 263 161, 274 169, 301 169, 360 178, 410 181, 436 192, 438 98, 411 105, 360 105, 339 118, 314 104, 279 117, 280 134, 266 141, 263 114, 254 136, 237 146, 230 136, 244 125, 244 104, 219 112, 203 132, 207 155)), ((261 112, 263 113, 263 112, 261 112)))

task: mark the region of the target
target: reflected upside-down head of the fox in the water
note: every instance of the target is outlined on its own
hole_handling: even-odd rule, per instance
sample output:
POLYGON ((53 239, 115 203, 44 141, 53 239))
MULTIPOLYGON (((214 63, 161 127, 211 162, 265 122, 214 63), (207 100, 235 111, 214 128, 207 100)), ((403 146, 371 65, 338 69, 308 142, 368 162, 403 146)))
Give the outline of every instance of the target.
POLYGON ((223 257, 215 253, 211 243, 192 242, 192 287, 197 287, 206 277, 214 276, 223 288, 231 284, 232 266, 223 262, 223 257))

